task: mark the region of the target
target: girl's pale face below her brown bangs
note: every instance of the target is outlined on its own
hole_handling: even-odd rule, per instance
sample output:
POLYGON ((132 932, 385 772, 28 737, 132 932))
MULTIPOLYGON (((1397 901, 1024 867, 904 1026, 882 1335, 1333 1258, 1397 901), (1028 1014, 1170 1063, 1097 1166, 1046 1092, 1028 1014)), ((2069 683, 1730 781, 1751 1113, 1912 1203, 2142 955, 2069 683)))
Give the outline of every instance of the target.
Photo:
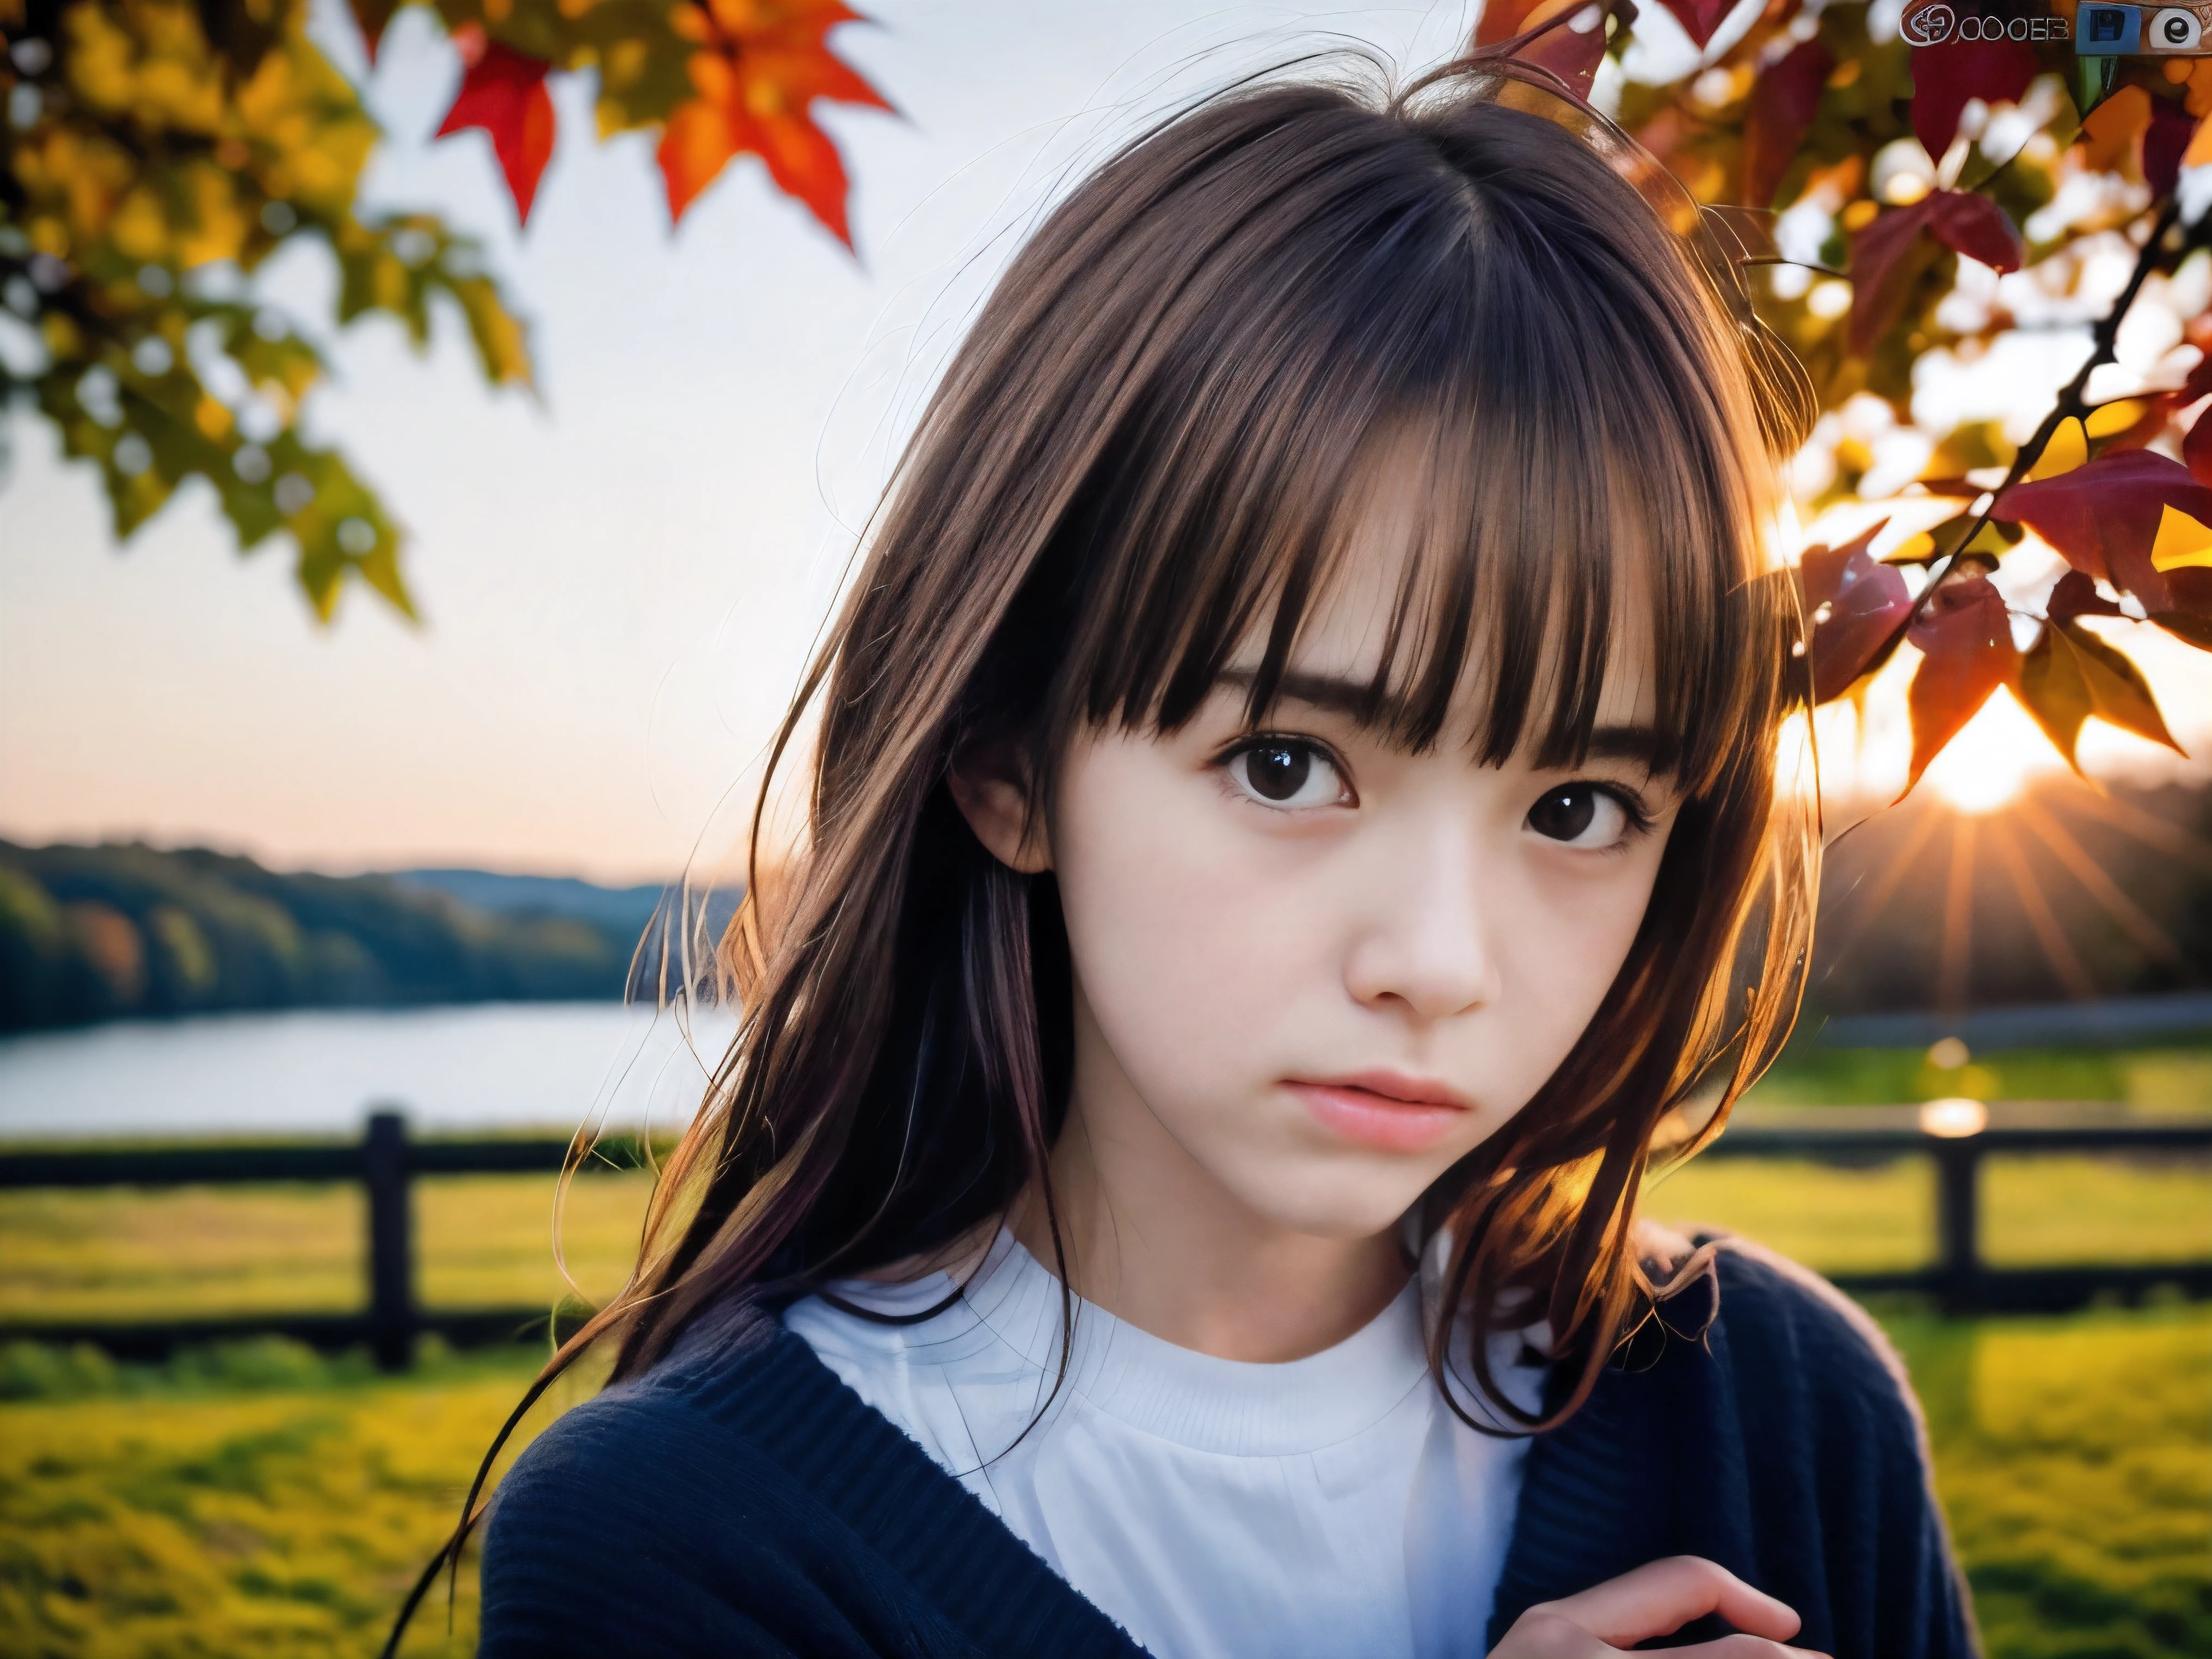
POLYGON ((1641 761, 1632 639, 1573 770, 1478 765, 1469 719, 1425 754, 1363 728, 1391 599, 1389 562, 1367 564, 1310 619, 1263 726, 1243 717, 1254 648, 1181 730, 1077 739, 1048 812, 1088 1159, 1108 1188, 1188 1159, 1175 1186, 1203 1172, 1197 1190, 1329 1239, 1398 1223, 1559 1066, 1677 810, 1641 761))

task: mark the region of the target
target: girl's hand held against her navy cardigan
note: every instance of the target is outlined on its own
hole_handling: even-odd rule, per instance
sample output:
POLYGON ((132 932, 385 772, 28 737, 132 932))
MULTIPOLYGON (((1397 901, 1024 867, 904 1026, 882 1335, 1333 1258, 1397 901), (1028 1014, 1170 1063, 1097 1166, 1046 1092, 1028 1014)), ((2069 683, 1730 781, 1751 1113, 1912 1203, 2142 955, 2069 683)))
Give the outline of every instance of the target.
POLYGON ((1670 1555, 1564 1601, 1533 1606, 1491 1648, 1491 1659, 1608 1659, 1708 1613, 1743 1635, 1668 1652, 1681 1659, 1818 1659, 1783 1646, 1798 1630, 1796 1613, 1699 1555, 1670 1555))

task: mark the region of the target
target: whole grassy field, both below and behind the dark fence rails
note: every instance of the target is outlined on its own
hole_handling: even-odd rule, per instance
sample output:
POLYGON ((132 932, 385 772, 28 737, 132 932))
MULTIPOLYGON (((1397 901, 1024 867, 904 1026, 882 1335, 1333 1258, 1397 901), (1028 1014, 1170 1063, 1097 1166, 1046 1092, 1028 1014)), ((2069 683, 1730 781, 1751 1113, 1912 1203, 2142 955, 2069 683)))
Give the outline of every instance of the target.
MULTIPOLYGON (((588 1294, 619 1283, 644 1194, 635 1175, 573 1183, 564 1239, 588 1294)), ((2002 1263, 2212 1256, 2205 1161, 1993 1159, 1984 1203, 2002 1263)), ((1648 1208, 1829 1272, 1929 1254, 1913 1161, 1692 1164, 1648 1208)), ((347 1188, 0 1194, 0 1318, 356 1307, 361 1230, 347 1188)), ((420 1183, 436 1305, 553 1303, 549 1237, 546 1179, 420 1183)), ((2212 1655, 2212 1307, 1885 1316, 1991 1659, 2212 1655)), ((374 1655, 533 1365, 438 1352, 380 1378, 279 1340, 164 1367, 0 1347, 0 1655, 374 1655)), ((427 1617, 407 1652, 467 1655, 471 1595, 465 1577, 451 1635, 427 1617)))

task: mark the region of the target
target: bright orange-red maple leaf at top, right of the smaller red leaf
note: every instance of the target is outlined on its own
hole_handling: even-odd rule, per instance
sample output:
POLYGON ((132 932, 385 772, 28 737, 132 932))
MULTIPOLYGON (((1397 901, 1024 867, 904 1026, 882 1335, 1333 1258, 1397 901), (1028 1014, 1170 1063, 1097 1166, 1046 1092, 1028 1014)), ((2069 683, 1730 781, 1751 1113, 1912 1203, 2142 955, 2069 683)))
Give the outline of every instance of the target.
POLYGON ((812 104, 889 108, 849 64, 830 53, 827 35, 860 13, 841 0, 708 0, 677 7, 677 33, 697 51, 697 93, 668 115, 659 164, 668 217, 681 219, 737 155, 759 155, 776 188, 803 201, 852 248, 845 217, 845 164, 830 135, 814 126, 812 104))

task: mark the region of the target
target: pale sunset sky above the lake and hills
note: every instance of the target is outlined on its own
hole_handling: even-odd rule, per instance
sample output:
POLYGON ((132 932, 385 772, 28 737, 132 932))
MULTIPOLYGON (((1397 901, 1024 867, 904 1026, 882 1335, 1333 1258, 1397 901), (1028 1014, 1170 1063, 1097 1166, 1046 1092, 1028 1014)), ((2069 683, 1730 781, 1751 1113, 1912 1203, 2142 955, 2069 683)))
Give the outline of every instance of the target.
POLYGON ((383 321, 332 336, 316 250, 263 270, 330 338, 312 429, 409 529, 420 626, 365 591, 316 626, 281 540, 241 560, 201 487, 117 549, 93 471, 11 418, 9 838, 334 872, 717 867, 898 436, 1068 170, 1241 69, 1347 42, 1409 69, 1471 20, 1458 0, 878 0, 832 40, 898 113, 816 106, 854 177, 854 257, 754 159, 670 232, 650 137, 597 142, 580 77, 555 82, 560 148, 515 234, 484 135, 429 137, 460 69, 427 15, 400 13, 369 75, 319 4, 389 135, 365 197, 484 237, 538 396, 484 389, 453 316, 427 356, 383 321))

